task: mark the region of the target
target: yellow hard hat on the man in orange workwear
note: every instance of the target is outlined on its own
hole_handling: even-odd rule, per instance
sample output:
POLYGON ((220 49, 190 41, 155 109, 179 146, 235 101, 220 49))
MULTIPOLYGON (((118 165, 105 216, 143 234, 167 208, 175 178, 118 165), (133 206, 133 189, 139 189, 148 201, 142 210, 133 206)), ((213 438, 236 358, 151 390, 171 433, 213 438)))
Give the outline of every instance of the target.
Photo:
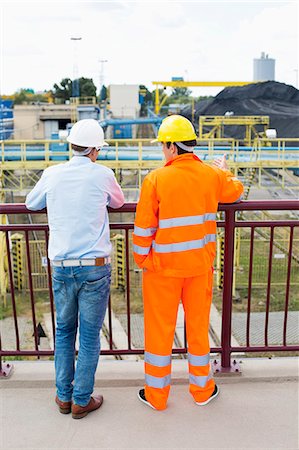
POLYGON ((159 142, 183 142, 194 139, 196 139, 196 134, 190 120, 177 114, 163 120, 157 138, 159 142))

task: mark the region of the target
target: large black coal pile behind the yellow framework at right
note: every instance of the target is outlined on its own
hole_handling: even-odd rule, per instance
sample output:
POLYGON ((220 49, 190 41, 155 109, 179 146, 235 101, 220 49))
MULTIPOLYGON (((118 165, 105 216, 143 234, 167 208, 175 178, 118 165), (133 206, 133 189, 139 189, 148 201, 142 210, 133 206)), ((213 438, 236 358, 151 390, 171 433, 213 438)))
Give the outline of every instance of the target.
MULTIPOLYGON (((293 86, 266 81, 227 87, 216 97, 195 105, 194 126, 198 130, 199 116, 221 116, 228 112, 235 116, 269 116, 269 128, 277 130, 277 137, 299 137, 299 90, 293 86)), ((181 114, 191 120, 191 107, 183 108, 181 114)), ((225 127, 224 137, 243 139, 244 131, 245 127, 225 127)))

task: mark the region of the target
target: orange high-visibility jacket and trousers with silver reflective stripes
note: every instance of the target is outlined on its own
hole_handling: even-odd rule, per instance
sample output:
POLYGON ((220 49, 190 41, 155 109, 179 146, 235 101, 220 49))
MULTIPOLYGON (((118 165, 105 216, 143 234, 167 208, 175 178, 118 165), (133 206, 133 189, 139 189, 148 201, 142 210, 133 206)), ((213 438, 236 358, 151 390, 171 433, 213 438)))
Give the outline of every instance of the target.
POLYGON ((203 402, 214 391, 208 330, 216 212, 218 202, 235 202, 242 192, 242 183, 231 172, 203 164, 193 153, 175 157, 142 184, 133 249, 144 269, 145 397, 156 409, 166 408, 180 300, 190 392, 203 402))

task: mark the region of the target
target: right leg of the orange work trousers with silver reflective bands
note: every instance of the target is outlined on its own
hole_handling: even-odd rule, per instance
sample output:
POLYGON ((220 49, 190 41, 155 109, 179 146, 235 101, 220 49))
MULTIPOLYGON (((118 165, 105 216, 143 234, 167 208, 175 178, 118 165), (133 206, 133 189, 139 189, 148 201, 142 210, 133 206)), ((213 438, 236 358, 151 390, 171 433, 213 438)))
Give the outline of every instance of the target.
POLYGON ((188 341, 189 390, 196 402, 207 400, 215 382, 210 369, 209 321, 212 302, 212 270, 185 278, 182 301, 188 341))

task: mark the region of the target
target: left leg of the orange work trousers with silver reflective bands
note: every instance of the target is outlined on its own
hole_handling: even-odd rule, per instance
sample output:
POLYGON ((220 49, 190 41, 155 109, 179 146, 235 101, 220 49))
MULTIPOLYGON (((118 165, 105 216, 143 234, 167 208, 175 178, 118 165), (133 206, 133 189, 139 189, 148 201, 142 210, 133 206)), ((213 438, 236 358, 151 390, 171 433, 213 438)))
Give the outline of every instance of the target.
POLYGON ((171 381, 171 350, 183 279, 143 273, 145 397, 165 409, 171 381))

